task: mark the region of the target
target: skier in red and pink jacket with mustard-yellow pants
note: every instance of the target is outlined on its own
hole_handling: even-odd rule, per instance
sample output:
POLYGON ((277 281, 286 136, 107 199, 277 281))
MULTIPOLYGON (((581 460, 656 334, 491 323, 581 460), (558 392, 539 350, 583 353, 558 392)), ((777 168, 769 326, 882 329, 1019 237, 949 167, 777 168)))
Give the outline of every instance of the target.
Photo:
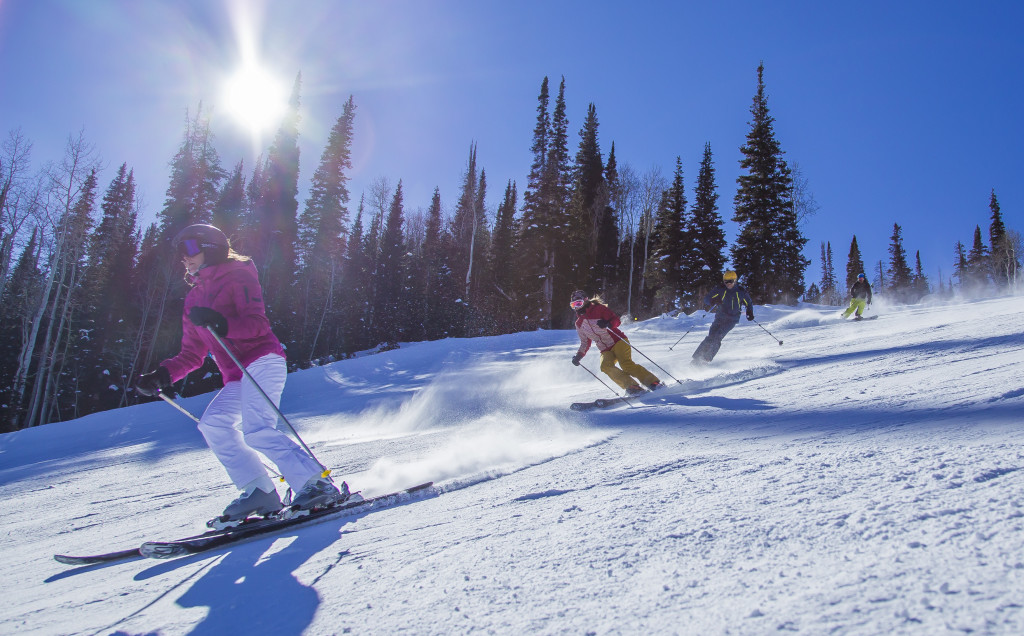
POLYGON ((601 351, 601 371, 626 389, 628 395, 646 392, 637 383, 638 380, 650 390, 662 386, 654 374, 633 362, 633 347, 626 334, 618 330, 618 316, 601 301, 600 296, 588 298, 586 293, 577 290, 572 292, 569 306, 577 312, 575 328, 580 335, 580 350, 572 356, 573 365, 580 366, 580 361, 590 349, 590 343, 595 342, 601 351))

